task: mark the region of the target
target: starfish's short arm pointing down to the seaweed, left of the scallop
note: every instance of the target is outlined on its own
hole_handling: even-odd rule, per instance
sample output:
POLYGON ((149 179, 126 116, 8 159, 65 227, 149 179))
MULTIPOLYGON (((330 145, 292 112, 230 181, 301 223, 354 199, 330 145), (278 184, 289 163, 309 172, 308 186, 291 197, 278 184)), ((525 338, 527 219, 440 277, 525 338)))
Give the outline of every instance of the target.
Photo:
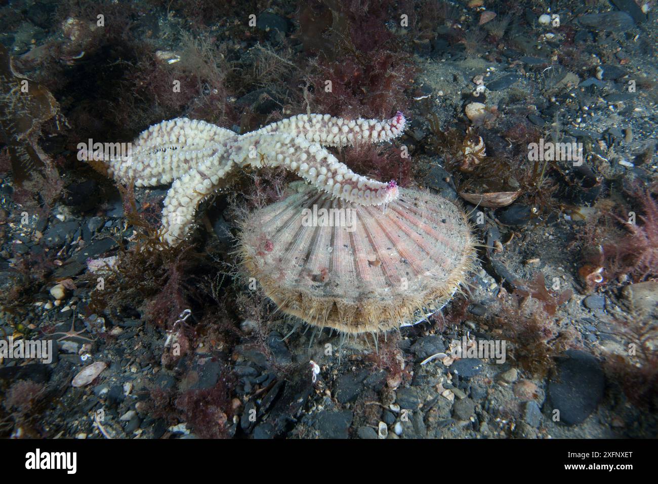
POLYGON ((199 203, 218 190, 234 168, 223 154, 222 148, 172 183, 162 217, 162 237, 168 244, 174 246, 187 236, 199 203))

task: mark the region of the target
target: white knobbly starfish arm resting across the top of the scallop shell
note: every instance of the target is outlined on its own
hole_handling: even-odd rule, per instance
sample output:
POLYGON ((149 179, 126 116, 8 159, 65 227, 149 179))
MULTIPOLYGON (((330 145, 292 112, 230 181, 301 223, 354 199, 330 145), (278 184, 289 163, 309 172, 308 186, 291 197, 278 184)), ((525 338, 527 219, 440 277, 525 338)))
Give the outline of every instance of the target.
MULTIPOLYGON (((315 142, 290 134, 261 134, 257 146, 259 155, 232 154, 239 165, 260 168, 281 166, 313 184, 318 190, 357 205, 382 205, 398 196, 395 181, 378 182, 354 173, 345 163, 315 142)), ((244 151, 244 150, 241 150, 244 151)), ((253 150, 251 150, 253 154, 253 150)))

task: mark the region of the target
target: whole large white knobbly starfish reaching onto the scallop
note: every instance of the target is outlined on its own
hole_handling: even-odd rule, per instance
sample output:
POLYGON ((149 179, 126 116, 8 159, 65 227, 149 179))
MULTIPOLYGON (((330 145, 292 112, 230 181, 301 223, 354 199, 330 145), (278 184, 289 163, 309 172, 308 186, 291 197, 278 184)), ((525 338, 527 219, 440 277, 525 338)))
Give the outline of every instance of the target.
POLYGON ((324 147, 384 142, 402 134, 405 117, 384 121, 297 115, 236 134, 204 121, 177 118, 154 124, 132 144, 130 155, 105 159, 107 173, 136 186, 172 183, 164 199, 163 239, 170 245, 190 230, 197 205, 238 167, 285 167, 318 190, 359 205, 397 198, 397 184, 357 175, 324 147))

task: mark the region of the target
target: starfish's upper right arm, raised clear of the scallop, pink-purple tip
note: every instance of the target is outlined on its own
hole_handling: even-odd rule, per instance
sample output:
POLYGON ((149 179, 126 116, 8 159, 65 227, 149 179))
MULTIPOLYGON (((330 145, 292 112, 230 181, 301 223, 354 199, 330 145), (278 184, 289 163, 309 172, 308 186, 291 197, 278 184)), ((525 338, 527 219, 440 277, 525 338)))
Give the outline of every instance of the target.
POLYGON ((260 136, 265 133, 303 136, 322 146, 352 146, 358 142, 378 143, 400 136, 407 124, 401 112, 391 119, 343 119, 330 115, 297 115, 245 134, 260 136))

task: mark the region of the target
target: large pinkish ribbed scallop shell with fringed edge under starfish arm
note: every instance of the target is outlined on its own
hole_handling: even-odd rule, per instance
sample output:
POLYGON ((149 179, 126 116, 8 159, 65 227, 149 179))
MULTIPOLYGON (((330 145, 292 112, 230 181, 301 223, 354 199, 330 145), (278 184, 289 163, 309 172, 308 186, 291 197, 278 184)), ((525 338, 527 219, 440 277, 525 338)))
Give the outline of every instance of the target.
POLYGON ((243 222, 242 263, 284 313, 311 325, 355 335, 422 321, 464 281, 475 241, 453 202, 399 191, 386 207, 309 189, 257 209, 243 222))

